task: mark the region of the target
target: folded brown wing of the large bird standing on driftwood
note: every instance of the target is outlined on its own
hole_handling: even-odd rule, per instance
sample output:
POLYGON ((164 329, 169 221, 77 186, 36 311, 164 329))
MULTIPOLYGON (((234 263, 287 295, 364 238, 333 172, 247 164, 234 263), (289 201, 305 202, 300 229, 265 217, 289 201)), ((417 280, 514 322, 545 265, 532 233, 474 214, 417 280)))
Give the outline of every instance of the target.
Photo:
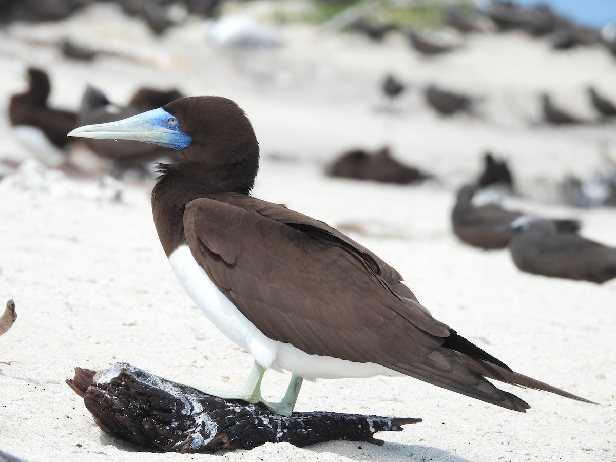
POLYGON ((294 221, 301 230, 291 226, 294 213, 282 206, 240 200, 191 201, 185 236, 213 282, 269 338, 309 354, 388 364, 415 362, 449 335, 391 290, 401 285, 397 272, 366 249, 302 216, 294 221))

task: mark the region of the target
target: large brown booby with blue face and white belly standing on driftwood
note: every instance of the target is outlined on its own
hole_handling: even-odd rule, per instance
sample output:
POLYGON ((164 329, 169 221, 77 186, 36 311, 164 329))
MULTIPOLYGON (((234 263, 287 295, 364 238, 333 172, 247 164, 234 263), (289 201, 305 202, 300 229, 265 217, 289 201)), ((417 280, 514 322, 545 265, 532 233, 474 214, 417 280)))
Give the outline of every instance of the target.
POLYGON ((254 357, 240 392, 291 415, 304 378, 411 376, 502 407, 529 405, 485 378, 587 402, 514 372, 436 320, 400 274, 321 221, 251 197, 259 145, 248 117, 222 97, 186 97, 71 136, 131 139, 180 151, 152 192, 156 230, 180 284, 254 357), (261 397, 267 368, 292 373, 281 402, 261 397))

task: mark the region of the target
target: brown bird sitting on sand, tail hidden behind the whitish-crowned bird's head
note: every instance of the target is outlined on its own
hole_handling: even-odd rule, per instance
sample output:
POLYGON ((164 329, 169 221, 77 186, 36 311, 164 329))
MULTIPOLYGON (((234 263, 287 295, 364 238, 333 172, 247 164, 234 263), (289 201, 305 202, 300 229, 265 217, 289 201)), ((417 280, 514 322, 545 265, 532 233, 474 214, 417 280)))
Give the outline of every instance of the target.
MULTIPOLYGON (((524 214, 507 210, 495 203, 475 206, 472 204, 478 187, 464 185, 458 190, 456 204, 452 210, 453 232, 461 241, 482 249, 504 249, 514 230, 512 222, 524 214)), ((572 219, 552 220, 558 232, 576 233, 580 222, 572 219)))

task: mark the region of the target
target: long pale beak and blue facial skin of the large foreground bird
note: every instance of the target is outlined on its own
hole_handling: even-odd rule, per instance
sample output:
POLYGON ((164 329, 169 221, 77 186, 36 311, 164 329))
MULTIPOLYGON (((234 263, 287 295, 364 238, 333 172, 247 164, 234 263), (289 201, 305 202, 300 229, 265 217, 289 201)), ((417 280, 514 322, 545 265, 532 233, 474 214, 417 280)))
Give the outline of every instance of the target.
POLYGON ((71 131, 68 136, 134 140, 179 151, 192 142, 192 137, 179 129, 177 118, 163 108, 115 122, 85 125, 71 131))

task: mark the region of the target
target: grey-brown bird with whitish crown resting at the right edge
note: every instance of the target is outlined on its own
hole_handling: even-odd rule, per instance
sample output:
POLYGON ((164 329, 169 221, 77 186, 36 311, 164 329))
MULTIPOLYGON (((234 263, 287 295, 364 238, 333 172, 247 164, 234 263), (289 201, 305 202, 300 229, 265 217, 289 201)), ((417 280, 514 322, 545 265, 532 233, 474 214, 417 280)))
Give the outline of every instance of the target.
POLYGON ((516 234, 509 251, 527 273, 604 283, 616 278, 616 248, 575 233, 558 233, 553 222, 522 216, 511 224, 516 234))

